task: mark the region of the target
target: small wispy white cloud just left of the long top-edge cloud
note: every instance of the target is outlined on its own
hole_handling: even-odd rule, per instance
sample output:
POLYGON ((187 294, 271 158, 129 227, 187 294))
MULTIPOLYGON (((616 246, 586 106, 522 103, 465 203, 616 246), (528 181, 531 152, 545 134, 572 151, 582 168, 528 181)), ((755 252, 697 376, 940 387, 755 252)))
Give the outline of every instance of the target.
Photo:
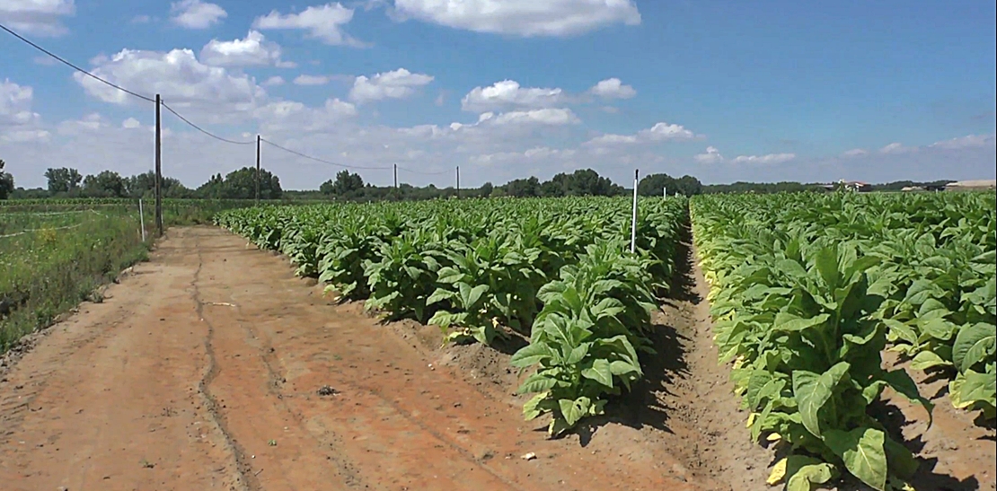
POLYGON ((301 29, 308 36, 334 46, 363 47, 364 43, 344 33, 342 27, 353 20, 353 9, 343 7, 339 2, 328 3, 321 7, 308 7, 298 14, 281 14, 276 10, 257 17, 253 21, 254 29, 301 29))

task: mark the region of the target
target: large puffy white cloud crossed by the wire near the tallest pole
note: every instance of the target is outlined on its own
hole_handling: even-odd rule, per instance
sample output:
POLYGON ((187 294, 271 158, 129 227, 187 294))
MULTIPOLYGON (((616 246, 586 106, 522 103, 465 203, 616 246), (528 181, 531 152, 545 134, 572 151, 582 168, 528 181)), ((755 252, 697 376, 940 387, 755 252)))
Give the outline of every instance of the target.
MULTIPOLYGON (((122 50, 111 58, 98 57, 93 63, 92 72, 98 77, 146 96, 160 94, 173 109, 190 107, 212 122, 251 111, 257 101, 266 98, 253 78, 204 65, 190 50, 122 50)), ((73 78, 90 96, 106 103, 136 101, 83 74, 76 73, 73 78)))

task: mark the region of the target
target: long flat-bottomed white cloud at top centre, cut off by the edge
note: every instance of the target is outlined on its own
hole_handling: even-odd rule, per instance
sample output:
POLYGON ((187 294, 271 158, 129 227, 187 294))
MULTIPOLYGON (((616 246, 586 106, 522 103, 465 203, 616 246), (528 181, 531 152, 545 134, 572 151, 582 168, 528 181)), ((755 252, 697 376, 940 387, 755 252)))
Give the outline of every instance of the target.
POLYGON ((402 18, 455 29, 522 37, 570 36, 640 24, 633 0, 395 0, 402 18))

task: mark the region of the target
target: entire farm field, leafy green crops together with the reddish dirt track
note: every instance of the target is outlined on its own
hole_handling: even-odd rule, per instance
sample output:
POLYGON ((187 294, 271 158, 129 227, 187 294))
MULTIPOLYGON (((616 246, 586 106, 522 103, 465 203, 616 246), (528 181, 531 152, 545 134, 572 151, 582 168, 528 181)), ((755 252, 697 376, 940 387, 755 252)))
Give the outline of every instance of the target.
POLYGON ((994 213, 987 194, 642 199, 631 254, 626 199, 221 212, 255 247, 174 229, 4 375, 0 477, 993 489, 994 213), (100 463, 46 470, 66 459, 100 463))

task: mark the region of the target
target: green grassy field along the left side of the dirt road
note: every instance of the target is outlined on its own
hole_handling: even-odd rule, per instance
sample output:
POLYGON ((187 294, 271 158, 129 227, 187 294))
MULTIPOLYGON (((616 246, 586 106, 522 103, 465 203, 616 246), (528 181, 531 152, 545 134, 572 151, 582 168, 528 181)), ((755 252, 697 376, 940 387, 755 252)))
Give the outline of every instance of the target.
MULTIPOLYGON (((137 201, 35 200, 0 205, 0 354, 23 336, 94 295, 129 266, 148 258, 155 238, 152 207, 137 201)), ((248 201, 166 200, 165 225, 208 223, 248 201)))

